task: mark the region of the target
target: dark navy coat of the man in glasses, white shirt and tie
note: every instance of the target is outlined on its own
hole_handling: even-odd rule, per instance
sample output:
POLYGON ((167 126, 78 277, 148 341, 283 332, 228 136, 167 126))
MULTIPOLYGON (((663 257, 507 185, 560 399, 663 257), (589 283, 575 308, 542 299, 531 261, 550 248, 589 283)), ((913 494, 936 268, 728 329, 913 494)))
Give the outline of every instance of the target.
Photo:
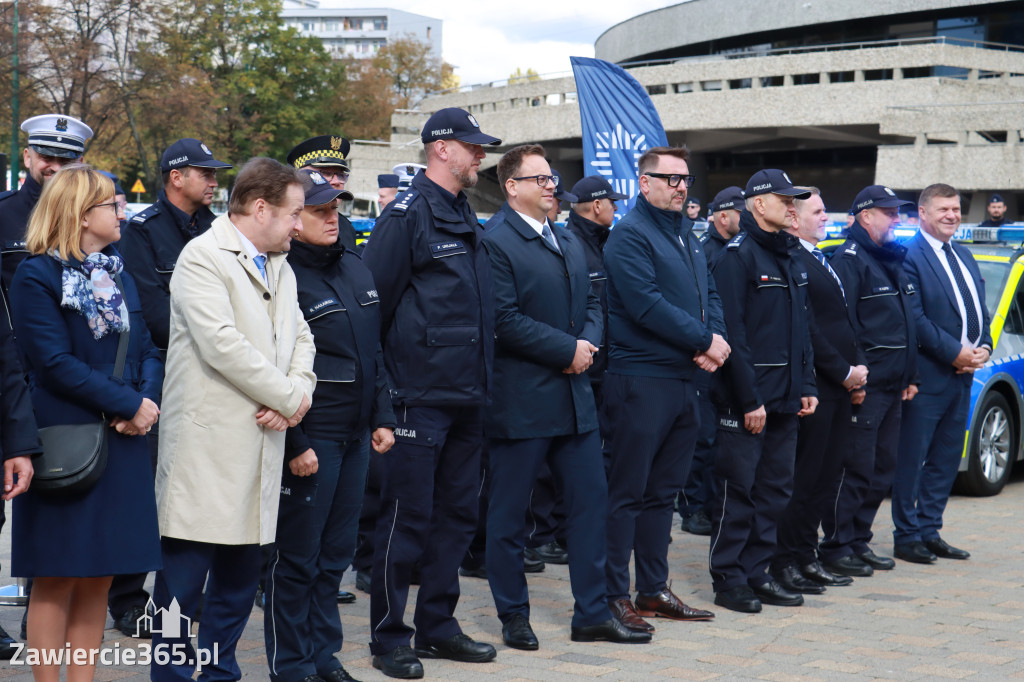
POLYGON ((492 438, 592 431, 597 408, 587 373, 562 373, 572 364, 578 340, 596 346, 601 338, 601 303, 590 288, 583 245, 555 226, 559 253, 515 211, 501 215, 483 238, 497 308, 495 382, 484 430, 492 438))

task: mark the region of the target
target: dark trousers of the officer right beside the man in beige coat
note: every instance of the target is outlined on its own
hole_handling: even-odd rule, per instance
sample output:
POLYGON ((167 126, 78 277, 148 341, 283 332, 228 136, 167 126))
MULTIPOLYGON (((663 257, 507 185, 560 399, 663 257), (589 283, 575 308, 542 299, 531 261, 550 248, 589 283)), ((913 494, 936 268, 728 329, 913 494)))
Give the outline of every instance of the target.
POLYGON ((341 668, 338 584, 355 552, 370 434, 343 442, 310 438, 317 470, 281 481, 278 535, 265 579, 263 637, 274 682, 341 668), (285 495, 285 491, 288 495, 285 495))

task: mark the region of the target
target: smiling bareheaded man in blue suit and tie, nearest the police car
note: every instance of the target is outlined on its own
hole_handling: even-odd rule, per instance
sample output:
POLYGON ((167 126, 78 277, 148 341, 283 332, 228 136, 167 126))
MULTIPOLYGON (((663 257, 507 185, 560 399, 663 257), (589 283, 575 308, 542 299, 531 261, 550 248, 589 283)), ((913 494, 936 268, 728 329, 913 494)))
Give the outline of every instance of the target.
POLYGON ((981 271, 971 252, 952 242, 959 193, 933 184, 918 203, 921 231, 907 244, 905 268, 921 292, 911 299, 921 393, 903 410, 893 541, 896 558, 931 563, 971 556, 946 544, 939 529, 964 450, 971 379, 988 361, 992 337, 981 271))

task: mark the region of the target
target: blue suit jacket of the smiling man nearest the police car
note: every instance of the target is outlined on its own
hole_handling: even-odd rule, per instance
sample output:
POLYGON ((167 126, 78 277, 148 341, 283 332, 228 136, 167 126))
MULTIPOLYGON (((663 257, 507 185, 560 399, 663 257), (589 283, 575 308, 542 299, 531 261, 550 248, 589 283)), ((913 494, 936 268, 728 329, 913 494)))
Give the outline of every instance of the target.
MULTIPOLYGON (((978 345, 991 348, 989 325, 992 318, 985 305, 985 281, 981 279, 981 270, 971 252, 955 242, 952 243, 952 248, 966 266, 965 276, 971 276, 978 290, 978 300, 981 302, 981 310, 978 311, 981 338, 978 345)), ((926 393, 942 393, 956 383, 969 386, 974 375, 956 374, 952 365, 963 348, 961 330, 964 325, 956 305, 953 283, 939 262, 935 250, 921 232, 907 242, 903 267, 907 280, 918 289, 918 296, 910 298, 910 309, 918 333, 921 390, 926 393)))

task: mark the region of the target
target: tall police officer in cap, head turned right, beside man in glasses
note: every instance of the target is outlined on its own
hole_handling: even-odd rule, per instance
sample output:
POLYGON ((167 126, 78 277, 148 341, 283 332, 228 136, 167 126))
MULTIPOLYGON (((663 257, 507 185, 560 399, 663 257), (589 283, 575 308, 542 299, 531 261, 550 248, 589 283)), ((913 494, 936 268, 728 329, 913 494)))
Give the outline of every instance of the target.
POLYGON ((364 255, 380 294, 396 416, 395 445, 384 458, 370 649, 374 667, 400 678, 423 676, 417 654, 496 655, 464 635, 454 613, 459 563, 476 526, 495 339, 490 263, 464 189, 476 184, 482 145, 501 140, 454 108, 433 114, 421 139, 427 169, 378 219, 364 255), (414 652, 402 619, 417 561, 414 652))

